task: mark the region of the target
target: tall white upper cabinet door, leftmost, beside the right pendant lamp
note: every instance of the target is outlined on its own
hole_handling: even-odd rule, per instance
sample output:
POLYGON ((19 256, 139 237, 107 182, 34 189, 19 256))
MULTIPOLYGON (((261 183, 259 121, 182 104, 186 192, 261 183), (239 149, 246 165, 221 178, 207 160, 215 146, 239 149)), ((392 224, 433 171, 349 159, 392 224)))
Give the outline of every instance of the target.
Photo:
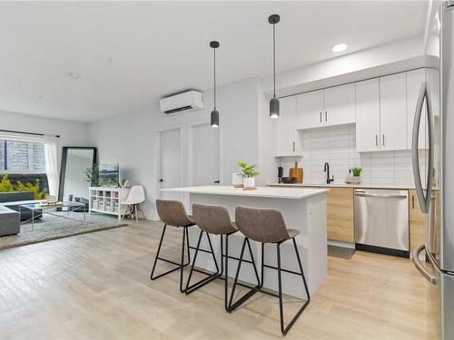
POLYGON ((296 130, 296 97, 280 100, 280 117, 275 120, 274 156, 300 156, 301 143, 296 130))

